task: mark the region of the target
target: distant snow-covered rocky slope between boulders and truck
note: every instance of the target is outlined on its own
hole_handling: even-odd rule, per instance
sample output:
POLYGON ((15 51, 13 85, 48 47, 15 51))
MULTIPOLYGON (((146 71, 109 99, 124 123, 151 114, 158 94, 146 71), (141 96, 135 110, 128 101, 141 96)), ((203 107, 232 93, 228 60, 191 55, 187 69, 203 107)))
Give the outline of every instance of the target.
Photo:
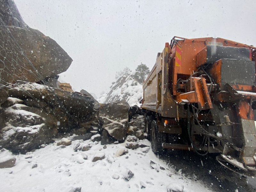
POLYGON ((111 103, 117 100, 125 100, 130 106, 139 105, 143 96, 142 84, 134 79, 134 72, 124 73, 110 86, 109 92, 103 94, 98 101, 111 103))

